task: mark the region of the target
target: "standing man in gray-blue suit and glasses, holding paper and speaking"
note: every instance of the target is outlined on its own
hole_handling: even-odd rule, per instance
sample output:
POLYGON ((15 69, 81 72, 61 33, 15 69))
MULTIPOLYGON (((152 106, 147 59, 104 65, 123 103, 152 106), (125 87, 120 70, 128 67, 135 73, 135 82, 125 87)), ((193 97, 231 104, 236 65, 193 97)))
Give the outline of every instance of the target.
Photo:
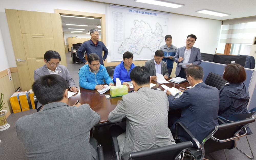
POLYGON ((176 77, 185 78, 186 74, 184 69, 189 65, 196 64, 199 65, 202 62, 201 52, 199 48, 193 47, 196 42, 196 36, 190 34, 186 39, 186 46, 178 48, 174 61, 177 63, 177 68, 175 71, 176 77), (179 65, 180 62, 190 63, 189 65, 179 65))

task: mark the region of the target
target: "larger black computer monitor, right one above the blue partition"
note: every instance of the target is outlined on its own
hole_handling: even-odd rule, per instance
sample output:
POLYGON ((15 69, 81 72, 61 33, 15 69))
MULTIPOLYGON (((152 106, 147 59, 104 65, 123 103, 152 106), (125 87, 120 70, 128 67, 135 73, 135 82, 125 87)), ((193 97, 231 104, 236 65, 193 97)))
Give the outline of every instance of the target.
POLYGON ((237 63, 244 67, 246 58, 247 58, 246 56, 215 55, 213 62, 221 63, 221 64, 237 63))

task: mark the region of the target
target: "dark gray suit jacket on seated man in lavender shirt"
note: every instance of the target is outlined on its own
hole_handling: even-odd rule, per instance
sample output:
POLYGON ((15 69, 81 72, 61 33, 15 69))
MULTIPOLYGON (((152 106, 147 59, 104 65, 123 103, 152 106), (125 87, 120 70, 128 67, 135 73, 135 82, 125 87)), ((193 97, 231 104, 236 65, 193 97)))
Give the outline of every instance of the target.
MULTIPOLYGON (((150 76, 156 76, 156 67, 155 67, 154 58, 146 61, 145 67, 149 70, 150 76)), ((167 70, 167 64, 164 61, 161 61, 161 74, 169 77, 169 73, 167 70)))

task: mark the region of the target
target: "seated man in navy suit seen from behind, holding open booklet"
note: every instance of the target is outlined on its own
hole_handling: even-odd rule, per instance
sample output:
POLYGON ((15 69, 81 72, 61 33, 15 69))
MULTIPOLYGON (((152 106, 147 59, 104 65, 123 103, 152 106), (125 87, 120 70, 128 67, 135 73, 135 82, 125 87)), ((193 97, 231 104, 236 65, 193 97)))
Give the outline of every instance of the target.
MULTIPOLYGON (((174 99, 169 90, 166 91, 170 112, 181 109, 181 117, 168 117, 169 124, 172 126, 172 133, 175 134, 175 123, 182 122, 188 130, 201 141, 209 134, 209 132, 218 125, 219 111, 219 90, 216 87, 206 85, 202 78, 204 72, 199 65, 189 65, 185 70, 186 78, 191 89, 183 90, 183 94, 174 99)), ((179 138, 182 141, 193 140, 185 133, 183 129, 179 129, 179 138)), ((195 143, 193 143, 195 145, 195 143)))

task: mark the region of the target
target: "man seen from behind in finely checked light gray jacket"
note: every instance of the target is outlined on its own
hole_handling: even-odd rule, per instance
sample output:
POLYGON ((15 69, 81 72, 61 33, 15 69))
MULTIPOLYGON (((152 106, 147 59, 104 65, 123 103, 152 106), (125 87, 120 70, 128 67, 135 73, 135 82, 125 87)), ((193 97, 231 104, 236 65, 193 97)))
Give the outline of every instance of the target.
POLYGON ((125 160, 131 152, 175 144, 167 126, 169 104, 165 93, 150 88, 151 77, 144 66, 133 68, 130 77, 135 92, 124 95, 108 116, 111 123, 127 119, 126 131, 118 125, 110 128, 125 160))

